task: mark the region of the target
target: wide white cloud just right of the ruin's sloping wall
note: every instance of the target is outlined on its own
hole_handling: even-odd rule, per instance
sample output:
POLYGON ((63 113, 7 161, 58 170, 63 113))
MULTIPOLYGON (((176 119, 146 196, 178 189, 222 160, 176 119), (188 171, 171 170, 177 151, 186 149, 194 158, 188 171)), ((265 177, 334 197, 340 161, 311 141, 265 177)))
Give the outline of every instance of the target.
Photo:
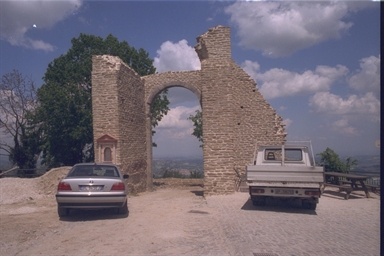
POLYGON ((249 60, 241 66, 258 83, 266 99, 329 91, 332 83, 348 73, 348 69, 341 65, 335 68, 318 66, 315 71, 307 70, 301 74, 279 68, 259 73, 260 65, 249 60))

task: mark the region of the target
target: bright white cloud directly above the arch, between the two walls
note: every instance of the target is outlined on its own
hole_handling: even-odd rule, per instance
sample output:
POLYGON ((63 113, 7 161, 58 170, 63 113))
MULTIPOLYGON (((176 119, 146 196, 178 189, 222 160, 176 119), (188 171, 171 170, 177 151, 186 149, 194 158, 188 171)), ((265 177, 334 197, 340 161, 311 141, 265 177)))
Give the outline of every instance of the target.
POLYGON ((156 71, 199 70, 200 60, 195 49, 183 39, 178 43, 164 42, 157 50, 157 57, 153 62, 156 71))

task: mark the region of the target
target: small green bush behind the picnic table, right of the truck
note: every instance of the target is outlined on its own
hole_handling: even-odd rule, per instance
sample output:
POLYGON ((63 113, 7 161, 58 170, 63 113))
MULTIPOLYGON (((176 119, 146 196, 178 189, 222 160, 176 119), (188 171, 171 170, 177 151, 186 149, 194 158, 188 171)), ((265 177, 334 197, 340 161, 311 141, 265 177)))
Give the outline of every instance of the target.
POLYGON ((319 164, 324 166, 326 172, 349 173, 353 170, 353 166, 358 164, 358 161, 351 157, 346 158, 346 162, 344 163, 340 160, 339 155, 330 148, 326 148, 325 151, 317 155, 321 157, 319 164))

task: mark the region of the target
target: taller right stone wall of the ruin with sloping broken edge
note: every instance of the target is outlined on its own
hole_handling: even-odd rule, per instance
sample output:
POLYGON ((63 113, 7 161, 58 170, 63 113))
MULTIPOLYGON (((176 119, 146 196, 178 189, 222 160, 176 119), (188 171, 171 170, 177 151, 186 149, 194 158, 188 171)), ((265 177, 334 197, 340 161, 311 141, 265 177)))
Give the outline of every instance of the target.
POLYGON ((231 58, 230 28, 215 27, 197 38, 201 61, 204 187, 206 194, 235 190, 260 141, 285 140, 281 118, 256 83, 231 58), (220 184, 220 185, 218 185, 220 184))

